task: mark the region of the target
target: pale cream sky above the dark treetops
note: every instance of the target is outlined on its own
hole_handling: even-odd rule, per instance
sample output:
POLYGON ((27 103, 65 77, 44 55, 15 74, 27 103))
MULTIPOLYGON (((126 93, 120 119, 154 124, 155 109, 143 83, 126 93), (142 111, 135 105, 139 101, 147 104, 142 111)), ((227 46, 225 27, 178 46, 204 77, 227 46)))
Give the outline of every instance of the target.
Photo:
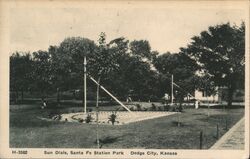
POLYGON ((230 22, 240 25, 242 10, 221 8, 14 8, 10 12, 10 47, 15 51, 47 50, 66 37, 81 36, 97 43, 125 37, 148 40, 151 49, 177 53, 209 26, 230 22))

